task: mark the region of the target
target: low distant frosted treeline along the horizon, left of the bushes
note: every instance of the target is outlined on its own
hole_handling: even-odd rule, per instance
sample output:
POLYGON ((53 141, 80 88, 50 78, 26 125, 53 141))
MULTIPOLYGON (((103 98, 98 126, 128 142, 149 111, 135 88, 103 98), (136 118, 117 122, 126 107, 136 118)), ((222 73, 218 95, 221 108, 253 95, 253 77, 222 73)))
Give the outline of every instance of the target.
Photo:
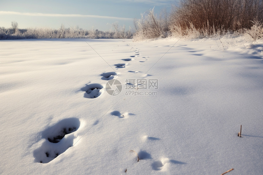
POLYGON ((78 27, 65 28, 62 24, 59 29, 27 28, 19 29, 17 22, 12 22, 12 28, 0 27, 0 39, 40 39, 40 38, 119 38, 132 37, 131 29, 125 31, 125 26, 119 27, 118 23, 111 24, 113 31, 83 30, 78 27))

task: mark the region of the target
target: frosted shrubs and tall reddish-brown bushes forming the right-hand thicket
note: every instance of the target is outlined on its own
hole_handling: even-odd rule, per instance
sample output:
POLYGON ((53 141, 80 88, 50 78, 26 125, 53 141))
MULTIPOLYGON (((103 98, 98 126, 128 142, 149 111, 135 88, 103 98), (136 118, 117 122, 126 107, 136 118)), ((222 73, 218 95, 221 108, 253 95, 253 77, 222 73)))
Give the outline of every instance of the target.
POLYGON ((157 18, 153 9, 142 15, 135 21, 133 38, 218 38, 232 32, 255 41, 263 38, 262 24, 262 0, 181 0, 172 6, 169 17, 157 18))

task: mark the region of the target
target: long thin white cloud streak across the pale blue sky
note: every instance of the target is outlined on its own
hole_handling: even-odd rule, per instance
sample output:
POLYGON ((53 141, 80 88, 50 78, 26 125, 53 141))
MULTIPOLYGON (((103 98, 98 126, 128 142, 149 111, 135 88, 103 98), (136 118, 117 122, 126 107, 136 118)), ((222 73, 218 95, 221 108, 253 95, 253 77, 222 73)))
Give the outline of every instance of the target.
POLYGON ((113 17, 113 16, 57 14, 57 13, 22 13, 22 12, 13 12, 13 11, 0 11, 0 15, 24 15, 24 16, 47 16, 47 17, 88 17, 88 18, 105 18, 105 19, 116 19, 116 20, 133 20, 133 18, 121 18, 121 17, 113 17))

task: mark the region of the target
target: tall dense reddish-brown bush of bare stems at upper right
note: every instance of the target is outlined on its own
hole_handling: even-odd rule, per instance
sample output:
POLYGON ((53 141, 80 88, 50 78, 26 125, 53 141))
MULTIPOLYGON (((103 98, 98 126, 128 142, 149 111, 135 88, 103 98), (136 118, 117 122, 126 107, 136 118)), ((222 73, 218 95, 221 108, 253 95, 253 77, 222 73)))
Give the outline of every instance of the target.
POLYGON ((209 37, 250 29, 253 20, 263 20, 262 0, 181 0, 170 14, 170 30, 173 35, 209 37))

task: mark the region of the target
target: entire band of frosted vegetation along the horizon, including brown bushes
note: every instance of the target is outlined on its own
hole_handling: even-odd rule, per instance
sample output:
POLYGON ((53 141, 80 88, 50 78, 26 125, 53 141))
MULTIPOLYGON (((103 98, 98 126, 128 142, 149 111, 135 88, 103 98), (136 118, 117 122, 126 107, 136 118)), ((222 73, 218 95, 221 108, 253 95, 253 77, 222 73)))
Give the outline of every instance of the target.
POLYGON ((18 29, 0 28, 0 39, 22 38, 133 38, 141 41, 154 38, 213 38, 220 35, 247 35, 256 41, 263 38, 262 0, 180 0, 172 5, 171 12, 158 16, 154 9, 141 14, 135 20, 135 32, 125 31, 115 22, 113 31, 65 29, 62 24, 57 30, 50 28, 18 29))

